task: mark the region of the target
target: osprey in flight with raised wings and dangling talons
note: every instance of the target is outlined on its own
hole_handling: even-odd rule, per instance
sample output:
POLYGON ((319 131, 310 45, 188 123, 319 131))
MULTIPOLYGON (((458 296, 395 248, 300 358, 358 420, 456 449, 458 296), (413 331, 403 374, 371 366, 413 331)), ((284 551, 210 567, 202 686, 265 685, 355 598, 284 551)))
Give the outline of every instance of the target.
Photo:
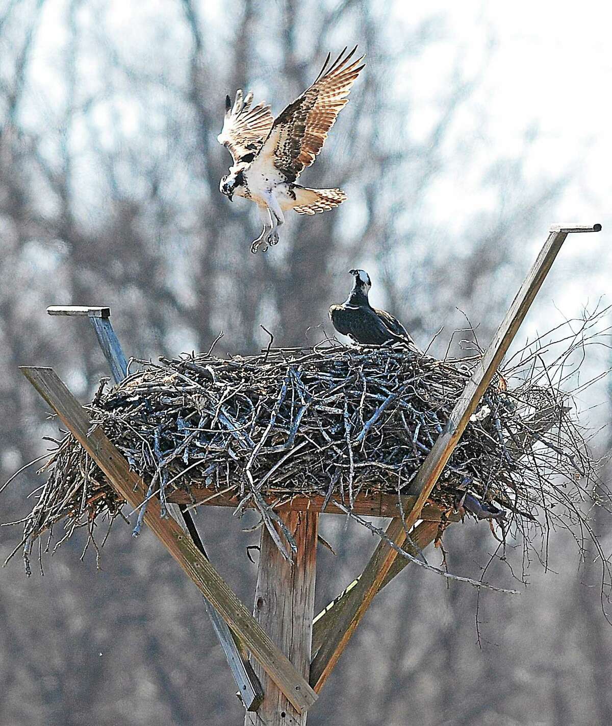
POLYGON ((331 65, 328 54, 313 85, 276 120, 270 106, 258 103, 251 107, 252 93, 243 98, 242 91, 236 91, 233 106, 230 97, 226 98, 226 118, 217 139, 228 147, 233 165, 219 189, 230 200, 236 194, 253 200, 260 208, 263 230, 251 252, 257 252, 264 240, 276 245, 284 211, 315 214, 337 207, 347 198, 342 189, 308 189, 295 181, 313 163, 347 103, 351 86, 363 68, 363 56, 351 61, 355 50, 357 46, 347 54, 345 48, 331 65))

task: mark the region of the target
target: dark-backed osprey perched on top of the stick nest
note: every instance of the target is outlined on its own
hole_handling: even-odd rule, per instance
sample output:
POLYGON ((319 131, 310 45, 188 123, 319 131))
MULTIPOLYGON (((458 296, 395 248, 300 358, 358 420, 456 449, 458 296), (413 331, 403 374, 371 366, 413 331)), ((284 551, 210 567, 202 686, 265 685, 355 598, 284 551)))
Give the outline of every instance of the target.
POLYGON ((368 301, 372 287, 365 270, 349 270, 355 281, 347 300, 342 305, 332 305, 329 317, 338 333, 348 335, 361 345, 382 345, 389 340, 406 343, 418 350, 408 331, 386 310, 373 308, 368 301))

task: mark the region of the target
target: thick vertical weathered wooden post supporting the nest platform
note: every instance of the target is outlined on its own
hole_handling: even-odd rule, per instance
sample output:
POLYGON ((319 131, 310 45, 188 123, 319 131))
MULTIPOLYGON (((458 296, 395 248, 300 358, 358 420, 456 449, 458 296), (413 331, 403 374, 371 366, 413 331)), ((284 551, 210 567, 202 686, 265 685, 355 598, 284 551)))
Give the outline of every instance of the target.
MULTIPOLYGON (((297 672, 308 677, 315 606, 318 513, 283 512, 284 523, 297 543, 291 566, 265 527, 262 527, 257 590, 253 615, 297 672)), ((306 712, 291 706, 268 674, 254 664, 265 696, 245 726, 304 726, 306 712)))

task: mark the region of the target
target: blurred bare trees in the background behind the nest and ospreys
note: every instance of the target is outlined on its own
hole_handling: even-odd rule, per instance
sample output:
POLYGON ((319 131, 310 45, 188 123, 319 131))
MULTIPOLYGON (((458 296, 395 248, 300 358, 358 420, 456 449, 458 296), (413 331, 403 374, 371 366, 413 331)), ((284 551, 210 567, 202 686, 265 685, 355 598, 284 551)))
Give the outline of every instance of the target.
MULTIPOLYGON (((458 309, 487 342, 563 176, 527 181, 538 138, 529 118, 520 148, 491 152, 487 110, 469 105, 495 54, 487 28, 475 70, 459 50, 447 54, 431 102, 418 105, 415 69, 447 44, 447 28, 444 15, 411 24, 401 15, 397 4, 365 0, 0 3, 3 480, 44 452, 41 436, 57 438, 17 366, 51 365, 83 399, 107 375, 86 322, 50 319, 50 304, 111 306, 128 355, 207 350, 220 330, 218 354, 252 353, 268 340, 261 324, 275 345, 331 333, 328 306, 346 297, 346 271, 359 266, 371 272, 374 301, 421 346, 442 325, 465 325, 458 309), (328 50, 357 41, 368 65, 305 173, 308 185, 343 187, 349 200, 291 217, 278 247, 253 256, 252 205, 218 192, 230 164, 216 141, 225 94, 252 89, 279 113, 328 50), (458 185, 474 190, 473 203, 453 199, 458 185)), ((444 354, 448 337, 432 351, 444 354)), ((20 518, 39 484, 30 470, 4 492, 1 520, 20 518)), ((207 547, 250 602, 255 567, 244 547, 257 534, 204 508, 207 547)), ((489 531, 456 529, 450 566, 479 576, 489 531)), ((321 605, 374 544, 340 518, 324 518, 323 533, 338 557, 321 552, 321 605)), ((16 535, 1 531, 3 559, 16 535)), ((2 572, 0 722, 241 722, 199 595, 154 539, 133 541, 117 524, 98 575, 91 553, 78 563, 83 544, 63 545, 44 579, 26 580, 15 560, 2 572)), ((564 544, 558 537, 559 552, 564 544)), ((534 573, 532 590, 512 602, 481 595, 481 649, 475 593, 408 568, 373 606, 309 724, 552 726, 584 723, 587 711, 590 722, 611 722, 600 673, 612 635, 597 611, 597 570, 576 573, 571 558, 554 568, 561 574, 534 573)))

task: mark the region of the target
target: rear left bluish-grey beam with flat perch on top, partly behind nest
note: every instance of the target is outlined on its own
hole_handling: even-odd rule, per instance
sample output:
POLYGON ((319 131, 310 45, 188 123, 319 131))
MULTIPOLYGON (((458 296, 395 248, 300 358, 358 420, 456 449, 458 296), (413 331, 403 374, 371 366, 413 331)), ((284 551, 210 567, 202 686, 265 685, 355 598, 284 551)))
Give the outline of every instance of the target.
MULTIPOLYGON (((115 330, 110 322, 110 308, 99 306, 59 306, 52 305, 47 308, 49 315, 66 315, 66 316, 87 316, 91 326, 94 328, 96 338, 104 358, 106 358, 115 383, 120 383, 128 372, 128 364, 123 353, 123 348, 119 342, 119 338, 115 335, 115 330)), ((184 507, 178 504, 168 503, 168 512, 178 522, 181 529, 191 537, 196 547, 205 558, 208 559, 204 544, 200 539, 197 528, 191 513, 186 512, 184 507)), ((247 711, 257 711, 263 699, 263 690, 260 680, 255 675, 252 665, 249 663, 248 656, 241 652, 241 645, 236 642, 226 621, 212 607, 206 597, 202 598, 204 610, 207 612, 212 628, 220 643, 223 654, 226 656, 228 666, 230 667, 233 680, 238 687, 238 696, 247 711)))

